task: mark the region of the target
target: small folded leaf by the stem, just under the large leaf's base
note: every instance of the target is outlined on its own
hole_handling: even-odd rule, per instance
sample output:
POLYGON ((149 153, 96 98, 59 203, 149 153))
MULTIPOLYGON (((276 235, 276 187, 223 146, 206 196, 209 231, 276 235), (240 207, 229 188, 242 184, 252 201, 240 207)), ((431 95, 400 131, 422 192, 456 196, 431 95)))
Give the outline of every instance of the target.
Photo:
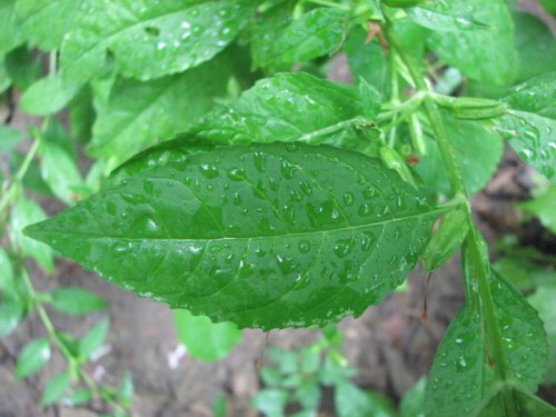
POLYGON ((435 270, 451 258, 468 231, 468 218, 463 209, 448 212, 423 252, 425 270, 435 270))

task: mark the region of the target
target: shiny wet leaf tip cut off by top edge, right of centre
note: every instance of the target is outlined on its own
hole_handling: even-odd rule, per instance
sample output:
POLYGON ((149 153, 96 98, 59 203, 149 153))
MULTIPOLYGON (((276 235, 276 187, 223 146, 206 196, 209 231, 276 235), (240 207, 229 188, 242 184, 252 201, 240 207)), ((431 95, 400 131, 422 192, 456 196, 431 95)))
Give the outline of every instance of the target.
POLYGON ((473 6, 467 0, 424 2, 407 9, 414 22, 438 31, 481 30, 488 24, 474 18, 473 6))

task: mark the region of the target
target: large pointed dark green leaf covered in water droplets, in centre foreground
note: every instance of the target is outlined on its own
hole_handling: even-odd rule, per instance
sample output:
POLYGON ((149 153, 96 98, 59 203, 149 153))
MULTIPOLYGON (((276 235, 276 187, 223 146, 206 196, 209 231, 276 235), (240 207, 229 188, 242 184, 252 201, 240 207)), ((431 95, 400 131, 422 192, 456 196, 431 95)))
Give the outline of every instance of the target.
POLYGON ((139 295, 270 329, 360 315, 440 211, 377 159, 271 143, 153 166, 26 232, 139 295))

